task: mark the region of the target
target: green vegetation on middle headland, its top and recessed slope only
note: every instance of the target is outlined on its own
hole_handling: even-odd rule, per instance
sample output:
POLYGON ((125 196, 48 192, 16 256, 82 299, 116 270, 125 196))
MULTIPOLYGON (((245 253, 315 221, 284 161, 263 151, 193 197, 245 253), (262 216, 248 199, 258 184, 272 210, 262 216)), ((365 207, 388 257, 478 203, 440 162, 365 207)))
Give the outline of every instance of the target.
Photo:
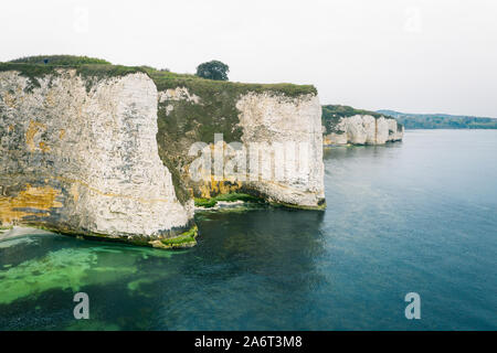
POLYGON ((190 197, 183 181, 188 175, 187 165, 192 161, 192 158, 188 157, 192 143, 212 143, 214 133, 223 133, 226 143, 241 141, 243 130, 239 124, 240 111, 236 103, 242 95, 267 93, 292 99, 300 95, 317 94, 314 86, 233 83, 142 68, 154 79, 159 92, 187 88, 191 97, 198 97, 198 101, 168 99, 159 103, 158 109, 159 156, 169 170, 177 170, 172 173, 172 181, 181 202, 190 197))

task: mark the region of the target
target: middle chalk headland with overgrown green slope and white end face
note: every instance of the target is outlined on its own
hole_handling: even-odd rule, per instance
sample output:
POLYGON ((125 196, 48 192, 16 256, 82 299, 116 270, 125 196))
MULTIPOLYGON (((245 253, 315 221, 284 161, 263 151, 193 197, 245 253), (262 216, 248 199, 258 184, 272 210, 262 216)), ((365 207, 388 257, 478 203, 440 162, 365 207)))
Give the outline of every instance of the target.
POLYGON ((151 77, 159 89, 159 153, 178 171, 178 194, 243 192, 287 206, 325 207, 321 109, 313 86, 151 77), (222 154, 223 165, 216 172, 212 160, 213 172, 203 170, 201 180, 191 178, 195 142, 222 154), (233 163, 237 170, 226 168, 233 163))

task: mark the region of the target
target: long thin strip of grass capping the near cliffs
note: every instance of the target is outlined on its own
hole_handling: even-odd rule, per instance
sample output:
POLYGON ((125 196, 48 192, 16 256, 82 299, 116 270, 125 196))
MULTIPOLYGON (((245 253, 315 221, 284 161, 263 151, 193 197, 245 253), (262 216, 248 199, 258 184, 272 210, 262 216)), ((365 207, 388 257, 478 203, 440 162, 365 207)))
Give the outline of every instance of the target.
POLYGON ((225 81, 212 81, 191 74, 177 74, 159 71, 150 66, 123 66, 113 65, 103 58, 74 56, 74 55, 38 55, 17 58, 7 63, 0 63, 0 72, 19 71, 21 75, 30 78, 34 86, 39 86, 38 78, 56 73, 56 68, 75 68, 77 74, 84 77, 115 77, 136 72, 146 73, 157 85, 159 90, 183 86, 197 95, 212 95, 216 93, 282 93, 289 97, 313 94, 316 87, 313 85, 294 84, 247 84, 225 81))

